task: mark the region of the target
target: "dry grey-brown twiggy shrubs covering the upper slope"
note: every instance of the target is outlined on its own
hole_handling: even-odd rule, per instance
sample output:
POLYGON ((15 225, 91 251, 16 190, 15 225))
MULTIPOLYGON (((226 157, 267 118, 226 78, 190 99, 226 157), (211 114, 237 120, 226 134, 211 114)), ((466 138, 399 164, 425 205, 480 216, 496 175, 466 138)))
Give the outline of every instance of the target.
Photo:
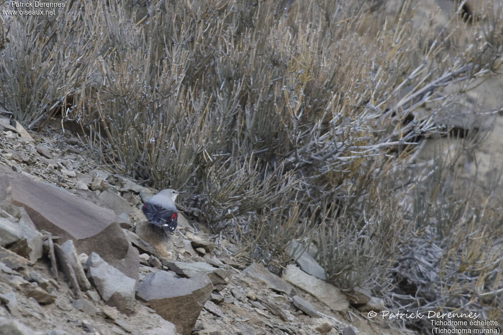
POLYGON ((78 121, 110 168, 190 190, 242 256, 281 267, 299 238, 329 280, 390 307, 501 317, 493 190, 465 186, 456 159, 415 160, 449 133, 443 88, 501 70, 501 8, 468 22, 462 2, 437 29, 394 3, 115 0, 3 18, 0 103, 31 129, 78 121))

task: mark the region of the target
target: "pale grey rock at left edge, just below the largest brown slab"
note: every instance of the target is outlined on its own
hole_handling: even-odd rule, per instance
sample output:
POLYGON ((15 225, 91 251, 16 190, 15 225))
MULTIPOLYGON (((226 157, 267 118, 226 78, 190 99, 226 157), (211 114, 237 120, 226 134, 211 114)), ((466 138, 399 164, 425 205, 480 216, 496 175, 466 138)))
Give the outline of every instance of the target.
POLYGON ((42 235, 31 228, 0 217, 0 246, 36 262, 42 257, 42 235))

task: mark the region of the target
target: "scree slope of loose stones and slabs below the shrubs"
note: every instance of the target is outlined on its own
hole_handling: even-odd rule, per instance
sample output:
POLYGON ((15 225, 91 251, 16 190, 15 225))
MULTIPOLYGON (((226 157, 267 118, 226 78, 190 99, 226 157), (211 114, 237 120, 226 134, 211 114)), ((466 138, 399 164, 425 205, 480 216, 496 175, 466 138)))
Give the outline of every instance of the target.
POLYGON ((0 333, 400 333, 366 317, 381 300, 326 283, 297 243, 280 278, 183 215, 156 235, 138 209, 152 190, 48 134, 0 120, 0 333))

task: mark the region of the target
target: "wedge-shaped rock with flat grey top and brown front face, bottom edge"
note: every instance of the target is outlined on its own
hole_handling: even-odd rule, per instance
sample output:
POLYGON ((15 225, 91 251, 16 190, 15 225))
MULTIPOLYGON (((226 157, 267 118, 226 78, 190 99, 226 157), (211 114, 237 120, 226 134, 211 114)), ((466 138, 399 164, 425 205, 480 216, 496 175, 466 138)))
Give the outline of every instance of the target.
POLYGON ((208 276, 176 278, 166 271, 150 273, 136 289, 138 299, 164 319, 173 322, 178 332, 188 335, 213 291, 208 276))

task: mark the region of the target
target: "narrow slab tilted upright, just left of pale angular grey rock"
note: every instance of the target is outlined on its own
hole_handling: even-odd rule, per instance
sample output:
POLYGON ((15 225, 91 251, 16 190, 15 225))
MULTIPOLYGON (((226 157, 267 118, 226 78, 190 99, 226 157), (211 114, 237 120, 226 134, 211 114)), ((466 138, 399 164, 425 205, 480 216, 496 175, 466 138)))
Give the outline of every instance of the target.
POLYGON ((59 266, 63 270, 63 273, 68 277, 75 277, 78 287, 82 291, 87 291, 91 289, 91 284, 86 278, 86 274, 82 268, 82 265, 78 261, 77 252, 73 246, 73 241, 68 240, 62 245, 54 246, 56 256, 59 259, 59 266))

